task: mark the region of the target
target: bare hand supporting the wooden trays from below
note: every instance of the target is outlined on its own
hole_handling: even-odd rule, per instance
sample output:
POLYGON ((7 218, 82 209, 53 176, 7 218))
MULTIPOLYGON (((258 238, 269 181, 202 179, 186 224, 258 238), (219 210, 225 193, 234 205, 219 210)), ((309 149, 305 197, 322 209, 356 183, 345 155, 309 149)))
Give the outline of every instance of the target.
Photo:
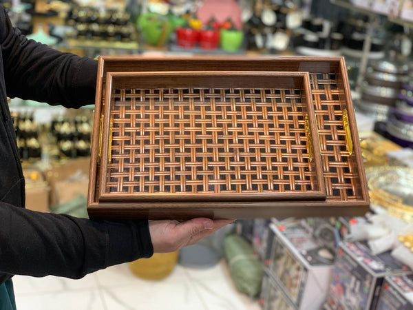
POLYGON ((195 245, 202 238, 230 223, 233 223, 233 220, 211 220, 210 218, 193 218, 184 222, 149 220, 153 252, 173 252, 187 245, 195 245))

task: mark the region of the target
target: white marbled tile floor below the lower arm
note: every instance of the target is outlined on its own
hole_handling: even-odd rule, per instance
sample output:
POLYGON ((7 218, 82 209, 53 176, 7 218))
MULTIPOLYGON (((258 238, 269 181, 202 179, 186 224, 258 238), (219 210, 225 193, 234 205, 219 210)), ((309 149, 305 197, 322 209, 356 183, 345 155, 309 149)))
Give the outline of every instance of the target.
POLYGON ((257 300, 237 292, 226 262, 209 269, 176 265, 162 280, 142 280, 127 264, 81 280, 14 276, 18 310, 259 310, 257 300))

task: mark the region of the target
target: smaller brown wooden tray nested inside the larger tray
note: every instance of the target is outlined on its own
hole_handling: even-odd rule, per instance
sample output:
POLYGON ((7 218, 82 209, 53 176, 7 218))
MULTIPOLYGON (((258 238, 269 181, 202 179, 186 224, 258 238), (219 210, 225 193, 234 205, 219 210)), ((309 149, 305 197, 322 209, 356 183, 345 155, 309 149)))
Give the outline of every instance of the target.
POLYGON ((326 199, 307 72, 107 72, 105 98, 98 203, 326 199))

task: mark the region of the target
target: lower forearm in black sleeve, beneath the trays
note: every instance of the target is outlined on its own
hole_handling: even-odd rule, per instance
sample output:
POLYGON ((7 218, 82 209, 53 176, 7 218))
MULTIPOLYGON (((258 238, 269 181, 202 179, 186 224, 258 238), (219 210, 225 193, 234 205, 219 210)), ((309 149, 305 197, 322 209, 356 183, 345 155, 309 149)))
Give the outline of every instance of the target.
POLYGON ((81 278, 153 254, 147 220, 108 222, 0 203, 0 272, 81 278))

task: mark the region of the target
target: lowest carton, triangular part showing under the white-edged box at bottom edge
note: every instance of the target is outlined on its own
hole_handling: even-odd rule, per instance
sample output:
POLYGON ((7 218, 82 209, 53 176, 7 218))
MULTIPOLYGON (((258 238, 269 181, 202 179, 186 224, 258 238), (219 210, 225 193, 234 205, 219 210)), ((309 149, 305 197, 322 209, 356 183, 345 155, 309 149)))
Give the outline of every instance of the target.
POLYGON ((295 310, 297 309, 293 302, 289 300, 277 282, 264 273, 262 279, 262 290, 260 304, 263 310, 295 310))

